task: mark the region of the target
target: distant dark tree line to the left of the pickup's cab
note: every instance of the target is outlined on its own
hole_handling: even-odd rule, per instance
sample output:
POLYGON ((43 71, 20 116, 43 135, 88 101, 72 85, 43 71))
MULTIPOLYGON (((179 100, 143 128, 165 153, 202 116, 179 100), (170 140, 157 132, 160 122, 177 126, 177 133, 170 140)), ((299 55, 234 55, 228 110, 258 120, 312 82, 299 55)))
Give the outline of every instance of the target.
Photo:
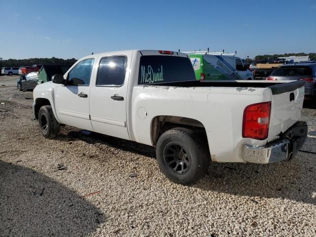
POLYGON ((28 58, 28 59, 6 59, 0 58, 0 68, 2 67, 22 67, 32 66, 34 64, 70 64, 73 65, 77 59, 62 59, 62 58, 28 58))

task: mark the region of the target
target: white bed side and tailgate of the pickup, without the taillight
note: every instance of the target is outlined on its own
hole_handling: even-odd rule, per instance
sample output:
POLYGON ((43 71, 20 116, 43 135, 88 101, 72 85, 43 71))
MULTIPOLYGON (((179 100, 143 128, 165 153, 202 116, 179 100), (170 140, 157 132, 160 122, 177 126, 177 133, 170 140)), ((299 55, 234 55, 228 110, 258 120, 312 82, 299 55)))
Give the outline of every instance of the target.
MULTIPOLYGON (((281 133, 286 132, 300 119, 304 100, 304 82, 264 82, 265 86, 257 82, 197 82, 135 86, 133 110, 144 107, 153 118, 165 114, 181 118, 196 118, 205 127, 212 160, 220 162, 256 162, 256 157, 253 157, 253 160, 244 160, 240 156, 243 150, 241 144, 265 146, 279 138, 281 133), (297 98, 295 101, 290 101, 290 93, 293 91, 297 94, 297 98), (138 96, 142 99, 139 100, 138 96), (162 98, 167 107, 159 105, 162 98), (240 108, 255 104, 255 101, 269 100, 272 103, 268 138, 264 140, 237 139, 237 137, 241 138, 244 112, 240 108)), ((137 131, 135 140, 147 145, 155 145, 151 141, 150 134, 147 133, 147 129, 151 127, 150 119, 148 124, 137 115, 132 120, 135 130, 137 127, 145 127, 137 131)), ((131 134, 133 134, 132 131, 131 134)), ((261 162, 268 163, 269 160, 261 160, 261 162)))

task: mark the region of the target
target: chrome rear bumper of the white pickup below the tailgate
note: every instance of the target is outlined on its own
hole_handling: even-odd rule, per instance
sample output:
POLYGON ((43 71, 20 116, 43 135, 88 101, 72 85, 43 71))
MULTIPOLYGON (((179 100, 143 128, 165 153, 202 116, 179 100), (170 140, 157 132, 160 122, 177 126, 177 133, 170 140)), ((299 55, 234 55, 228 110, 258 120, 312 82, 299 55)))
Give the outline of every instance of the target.
POLYGON ((264 147, 245 146, 243 160, 250 163, 266 164, 285 161, 295 157, 307 137, 307 123, 296 122, 286 130, 277 141, 268 143, 264 147))

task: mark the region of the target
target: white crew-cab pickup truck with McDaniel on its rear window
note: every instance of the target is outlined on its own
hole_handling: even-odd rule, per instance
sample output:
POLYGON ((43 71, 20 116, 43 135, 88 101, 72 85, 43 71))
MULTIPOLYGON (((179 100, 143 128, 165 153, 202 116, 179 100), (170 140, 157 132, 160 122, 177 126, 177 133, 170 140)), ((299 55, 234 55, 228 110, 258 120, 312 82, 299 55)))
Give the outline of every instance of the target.
POLYGON ((154 146, 165 176, 191 184, 210 161, 293 158, 307 136, 304 83, 201 82, 184 53, 107 52, 38 85, 33 111, 46 138, 68 124, 154 146))

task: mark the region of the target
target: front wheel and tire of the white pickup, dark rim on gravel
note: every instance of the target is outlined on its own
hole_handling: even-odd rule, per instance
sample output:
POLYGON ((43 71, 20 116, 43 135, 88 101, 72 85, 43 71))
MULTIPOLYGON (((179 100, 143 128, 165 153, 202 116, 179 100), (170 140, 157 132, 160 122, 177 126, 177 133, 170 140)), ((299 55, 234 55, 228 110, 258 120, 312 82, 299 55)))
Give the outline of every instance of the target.
POLYGON ((60 124, 57 122, 50 105, 40 107, 39 111, 40 133, 48 138, 55 138, 60 131, 60 124))

